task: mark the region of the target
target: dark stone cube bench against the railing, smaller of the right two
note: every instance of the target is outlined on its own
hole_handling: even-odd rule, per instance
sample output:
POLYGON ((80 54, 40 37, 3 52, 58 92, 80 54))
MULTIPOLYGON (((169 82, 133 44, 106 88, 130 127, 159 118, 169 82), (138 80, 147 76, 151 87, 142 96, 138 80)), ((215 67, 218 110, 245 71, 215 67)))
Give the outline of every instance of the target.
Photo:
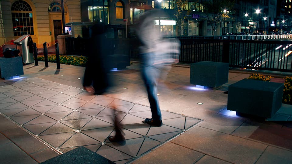
POLYGON ((201 61, 190 64, 191 84, 217 88, 228 82, 229 64, 201 61))

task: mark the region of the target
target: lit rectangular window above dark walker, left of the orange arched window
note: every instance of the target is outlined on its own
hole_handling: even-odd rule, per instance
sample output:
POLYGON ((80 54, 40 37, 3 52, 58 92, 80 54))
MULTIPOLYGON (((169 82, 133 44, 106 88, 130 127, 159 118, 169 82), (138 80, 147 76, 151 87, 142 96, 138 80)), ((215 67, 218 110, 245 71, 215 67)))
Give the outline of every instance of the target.
POLYGON ((88 6, 88 18, 90 22, 105 22, 109 24, 109 7, 104 6, 88 6))

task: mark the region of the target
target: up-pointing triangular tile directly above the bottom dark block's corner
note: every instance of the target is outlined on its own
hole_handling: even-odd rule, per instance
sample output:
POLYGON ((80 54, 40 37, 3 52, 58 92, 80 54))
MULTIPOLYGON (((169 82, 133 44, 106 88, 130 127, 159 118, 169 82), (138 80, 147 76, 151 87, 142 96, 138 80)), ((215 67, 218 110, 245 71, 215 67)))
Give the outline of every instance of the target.
POLYGON ((75 146, 84 146, 84 145, 93 145, 99 144, 100 142, 90 138, 87 135, 82 133, 76 133, 73 135, 68 141, 66 141, 60 148, 68 148, 68 147, 75 147, 75 146))

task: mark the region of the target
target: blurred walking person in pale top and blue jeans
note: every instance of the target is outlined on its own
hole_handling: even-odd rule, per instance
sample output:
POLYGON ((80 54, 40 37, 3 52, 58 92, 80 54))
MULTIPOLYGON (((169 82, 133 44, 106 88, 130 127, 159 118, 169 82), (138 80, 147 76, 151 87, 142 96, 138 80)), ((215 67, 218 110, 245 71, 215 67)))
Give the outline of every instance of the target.
MULTIPOLYGON (((145 87, 148 93, 149 104, 152 112, 151 118, 146 118, 144 122, 152 126, 162 126, 162 114, 157 97, 157 79, 165 67, 165 63, 175 63, 171 53, 179 54, 179 50, 172 49, 169 39, 163 39, 160 25, 155 25, 155 20, 167 17, 163 10, 151 9, 146 5, 145 9, 150 9, 140 17, 136 26, 136 34, 143 46, 140 46, 142 64, 141 72, 145 87)), ((174 45, 177 47, 177 40, 174 45)))

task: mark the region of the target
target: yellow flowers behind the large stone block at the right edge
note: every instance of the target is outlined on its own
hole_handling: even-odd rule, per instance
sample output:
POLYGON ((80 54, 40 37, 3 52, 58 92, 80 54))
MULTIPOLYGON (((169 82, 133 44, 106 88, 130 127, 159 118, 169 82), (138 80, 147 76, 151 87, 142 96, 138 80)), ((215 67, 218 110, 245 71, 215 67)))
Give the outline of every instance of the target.
MULTIPOLYGON (((271 78, 272 78, 272 76, 265 77, 264 75, 261 75, 259 73, 253 73, 252 75, 249 76, 248 79, 270 81, 271 78)), ((283 79, 285 79, 285 83, 284 83, 284 89, 283 89, 283 100, 282 100, 282 102, 284 104, 292 104, 292 99, 291 99, 291 95, 292 95, 292 77, 287 76, 287 77, 285 77, 283 79)))

